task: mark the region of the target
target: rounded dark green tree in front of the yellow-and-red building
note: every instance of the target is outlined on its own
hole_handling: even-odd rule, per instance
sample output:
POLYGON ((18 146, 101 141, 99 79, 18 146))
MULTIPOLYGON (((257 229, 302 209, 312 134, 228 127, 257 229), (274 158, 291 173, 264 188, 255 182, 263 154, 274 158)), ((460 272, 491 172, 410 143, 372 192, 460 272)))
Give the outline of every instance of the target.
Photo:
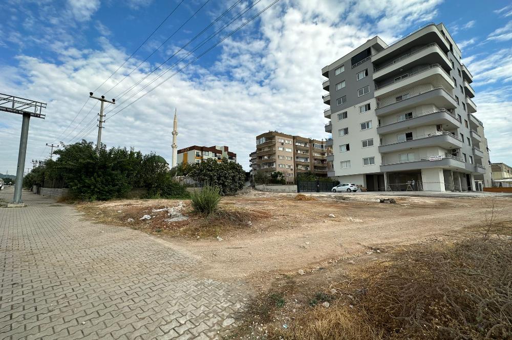
POLYGON ((234 195, 245 185, 245 171, 242 165, 222 159, 209 158, 204 162, 190 165, 190 177, 202 178, 210 186, 219 188, 222 196, 234 195))

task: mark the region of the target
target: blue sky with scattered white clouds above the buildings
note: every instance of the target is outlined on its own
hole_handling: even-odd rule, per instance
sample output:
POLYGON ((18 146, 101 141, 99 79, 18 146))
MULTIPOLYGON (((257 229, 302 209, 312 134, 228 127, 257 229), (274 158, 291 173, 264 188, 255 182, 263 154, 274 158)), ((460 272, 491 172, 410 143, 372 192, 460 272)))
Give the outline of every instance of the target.
MULTIPOLYGON (((116 99, 106 146, 170 163, 176 109, 178 148, 227 145, 248 171, 261 133, 330 137, 324 66, 375 35, 391 42, 429 22, 445 24, 473 74, 491 161, 512 165, 509 1, 280 0, 265 10, 273 2, 4 0, 0 93, 48 104, 46 119, 30 120, 25 167, 50 156, 46 143, 96 142, 92 91, 116 99)), ((16 171, 21 122, 0 112, 0 173, 16 171)))

